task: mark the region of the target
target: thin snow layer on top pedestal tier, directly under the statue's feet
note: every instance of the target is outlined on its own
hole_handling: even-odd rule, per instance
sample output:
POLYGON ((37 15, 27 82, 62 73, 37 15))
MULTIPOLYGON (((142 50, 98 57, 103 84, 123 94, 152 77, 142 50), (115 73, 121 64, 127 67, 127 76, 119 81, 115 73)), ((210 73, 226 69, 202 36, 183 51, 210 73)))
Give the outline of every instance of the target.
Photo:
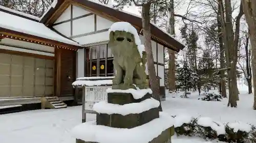
POLYGON ((141 89, 141 90, 135 90, 135 89, 128 89, 128 90, 113 90, 111 88, 106 89, 107 93, 131 93, 133 95, 134 99, 140 99, 147 93, 152 94, 151 89, 141 89))

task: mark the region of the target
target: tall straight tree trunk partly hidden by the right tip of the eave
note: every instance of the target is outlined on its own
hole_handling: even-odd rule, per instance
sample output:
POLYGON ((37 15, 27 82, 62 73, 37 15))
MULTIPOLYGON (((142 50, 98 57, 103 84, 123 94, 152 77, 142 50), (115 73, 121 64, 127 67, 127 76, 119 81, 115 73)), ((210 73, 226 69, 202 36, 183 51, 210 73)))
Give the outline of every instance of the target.
MULTIPOLYGON (((174 26, 174 0, 170 1, 170 7, 169 7, 169 27, 168 27, 168 33, 170 35, 175 35, 175 26, 174 26)), ((169 66, 168 66, 168 84, 169 84, 169 92, 175 91, 175 51, 168 49, 169 53, 169 66)))

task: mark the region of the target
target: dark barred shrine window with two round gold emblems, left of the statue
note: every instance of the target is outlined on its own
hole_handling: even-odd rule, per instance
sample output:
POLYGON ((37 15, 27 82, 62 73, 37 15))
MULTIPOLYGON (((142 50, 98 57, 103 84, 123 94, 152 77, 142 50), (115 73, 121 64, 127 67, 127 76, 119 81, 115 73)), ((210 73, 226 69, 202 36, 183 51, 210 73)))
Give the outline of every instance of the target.
POLYGON ((113 55, 107 44, 86 48, 86 76, 114 76, 113 55))

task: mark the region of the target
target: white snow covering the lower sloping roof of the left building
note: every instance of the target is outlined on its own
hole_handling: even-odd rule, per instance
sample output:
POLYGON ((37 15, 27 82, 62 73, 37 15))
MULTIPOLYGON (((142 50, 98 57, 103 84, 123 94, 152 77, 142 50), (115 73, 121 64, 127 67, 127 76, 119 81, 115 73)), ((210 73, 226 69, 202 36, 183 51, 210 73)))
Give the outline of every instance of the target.
MULTIPOLYGON (((1 7, 1 9, 2 9, 2 7, 1 7)), ((12 12, 17 13, 17 11, 13 11, 13 10, 12 10, 12 12)), ((23 15, 28 16, 28 14, 23 14, 23 15)), ((30 20, 30 19, 27 19, 24 17, 16 16, 16 15, 6 13, 3 11, 0 11, 0 17, 6 17, 5 20, 0 20, 0 27, 2 27, 2 28, 38 36, 41 38, 55 40, 55 41, 59 41, 59 42, 66 43, 66 44, 80 46, 78 43, 76 43, 70 39, 67 39, 65 37, 62 37, 61 35, 50 30, 50 28, 48 28, 43 23, 39 23, 37 21, 33 21, 33 20, 30 20)), ((34 17, 34 16, 30 15, 30 17, 34 17)))

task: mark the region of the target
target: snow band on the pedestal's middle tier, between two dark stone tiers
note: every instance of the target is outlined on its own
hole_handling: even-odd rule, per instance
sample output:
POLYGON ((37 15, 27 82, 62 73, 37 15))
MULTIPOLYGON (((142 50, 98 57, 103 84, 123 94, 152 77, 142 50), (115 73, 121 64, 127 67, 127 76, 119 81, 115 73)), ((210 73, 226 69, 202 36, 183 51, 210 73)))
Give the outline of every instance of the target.
POLYGON ((140 103, 130 103, 124 105, 111 104, 106 101, 101 101, 94 104, 93 110, 98 113, 107 113, 108 115, 117 113, 122 116, 126 116, 131 113, 141 113, 152 108, 157 108, 159 105, 160 102, 153 98, 143 100, 140 103))

